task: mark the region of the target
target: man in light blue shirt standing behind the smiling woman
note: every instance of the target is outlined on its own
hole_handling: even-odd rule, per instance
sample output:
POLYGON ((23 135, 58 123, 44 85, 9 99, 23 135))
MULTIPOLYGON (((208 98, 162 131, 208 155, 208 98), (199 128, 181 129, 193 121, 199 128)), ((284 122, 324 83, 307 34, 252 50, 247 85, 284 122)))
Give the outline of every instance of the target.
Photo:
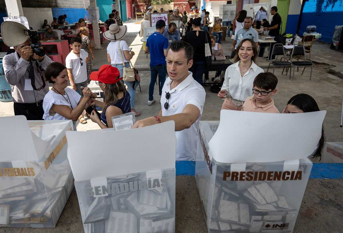
POLYGON ((238 45, 243 39, 252 39, 255 44, 256 48, 258 47, 258 32, 252 27, 252 18, 247 17, 244 19, 244 27, 235 33, 235 39, 232 42, 231 46, 231 57, 233 58, 236 54, 236 45, 238 45))

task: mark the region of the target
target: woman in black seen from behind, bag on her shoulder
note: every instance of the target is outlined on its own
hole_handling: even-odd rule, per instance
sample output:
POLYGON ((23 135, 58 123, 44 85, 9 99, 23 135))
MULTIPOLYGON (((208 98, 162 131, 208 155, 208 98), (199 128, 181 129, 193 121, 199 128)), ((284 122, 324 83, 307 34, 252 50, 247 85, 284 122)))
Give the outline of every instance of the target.
POLYGON ((202 85, 202 76, 206 70, 207 64, 205 59, 205 43, 206 37, 208 44, 211 46, 211 38, 208 32, 200 29, 201 18, 196 18, 192 22, 193 31, 187 32, 184 41, 191 44, 193 47, 193 65, 188 70, 192 72, 193 79, 202 85))

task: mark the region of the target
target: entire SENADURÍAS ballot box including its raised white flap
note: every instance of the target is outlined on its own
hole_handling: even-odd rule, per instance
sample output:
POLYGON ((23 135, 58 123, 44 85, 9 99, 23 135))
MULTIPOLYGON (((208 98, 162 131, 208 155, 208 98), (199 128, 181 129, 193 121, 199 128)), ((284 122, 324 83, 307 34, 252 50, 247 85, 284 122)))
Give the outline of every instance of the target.
POLYGON ((67 138, 86 233, 175 232, 174 121, 67 138), (85 138, 95 143, 81 148, 85 138))

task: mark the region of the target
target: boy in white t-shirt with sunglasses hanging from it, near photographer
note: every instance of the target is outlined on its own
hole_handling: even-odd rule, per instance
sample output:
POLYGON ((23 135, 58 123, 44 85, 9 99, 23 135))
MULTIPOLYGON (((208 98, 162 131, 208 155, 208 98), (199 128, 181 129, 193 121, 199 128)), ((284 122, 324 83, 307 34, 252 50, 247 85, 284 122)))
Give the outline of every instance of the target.
MULTIPOLYGON (((71 88, 78 91, 82 95, 81 86, 87 87, 87 62, 89 60, 88 53, 81 49, 82 40, 76 36, 71 39, 70 48, 71 52, 66 58, 66 67, 71 88)), ((86 124, 87 121, 83 118, 82 114, 79 117, 81 124, 86 124)))

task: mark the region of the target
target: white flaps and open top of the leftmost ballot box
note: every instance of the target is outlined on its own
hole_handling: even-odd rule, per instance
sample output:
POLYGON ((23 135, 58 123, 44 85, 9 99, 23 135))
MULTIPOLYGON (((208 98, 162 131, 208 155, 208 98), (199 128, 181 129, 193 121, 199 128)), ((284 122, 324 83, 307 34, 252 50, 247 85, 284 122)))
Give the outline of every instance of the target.
POLYGON ((59 131, 71 121, 27 121, 25 116, 0 117, 0 161, 40 160, 59 131), (29 124, 37 122, 37 126, 29 124), (50 124, 50 126, 47 126, 50 124), (54 124, 55 127, 51 127, 54 124), (44 127, 43 125, 46 125, 44 127), (49 130, 45 130, 49 128, 49 130), (51 130, 54 128, 55 130, 51 130))

